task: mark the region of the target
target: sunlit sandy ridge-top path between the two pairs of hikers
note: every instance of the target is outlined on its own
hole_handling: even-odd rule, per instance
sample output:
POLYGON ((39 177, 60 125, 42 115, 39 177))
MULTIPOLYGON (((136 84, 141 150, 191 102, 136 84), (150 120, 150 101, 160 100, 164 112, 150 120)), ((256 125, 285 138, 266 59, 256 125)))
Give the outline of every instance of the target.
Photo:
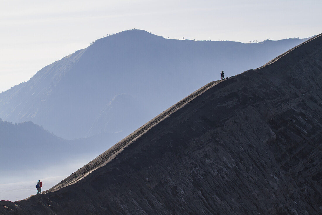
POLYGON ((165 110, 164 112, 160 113, 156 117, 154 117, 152 120, 148 121, 146 124, 129 134, 126 138, 120 140, 118 143, 116 143, 114 146, 100 154, 98 157, 93 159, 90 163, 86 164, 85 166, 81 167, 79 170, 68 176, 66 179, 62 180, 59 184, 53 186, 48 191, 45 191, 43 193, 49 193, 53 191, 57 191, 62 187, 66 187, 68 185, 74 184, 84 178, 85 176, 89 175, 94 170, 100 168, 101 166, 106 165, 111 161, 113 158, 115 158, 118 153, 120 153, 125 147, 127 147, 129 144, 132 143, 133 140, 137 139, 139 136, 143 135, 145 132, 147 132, 149 129, 151 129, 154 125, 168 117, 171 113, 175 112, 179 108, 181 108, 183 105, 191 101, 192 99, 196 98, 200 94, 204 93, 208 89, 212 88, 214 85, 218 84, 223 80, 217 80, 212 81, 203 87, 199 88, 192 94, 185 97, 183 100, 179 101, 178 103, 175 103, 173 106, 165 110))

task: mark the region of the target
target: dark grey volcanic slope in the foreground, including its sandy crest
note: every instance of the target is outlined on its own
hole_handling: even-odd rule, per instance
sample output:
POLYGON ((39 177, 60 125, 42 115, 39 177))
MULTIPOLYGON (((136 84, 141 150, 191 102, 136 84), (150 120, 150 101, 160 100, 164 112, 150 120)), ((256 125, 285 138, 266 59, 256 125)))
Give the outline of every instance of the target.
POLYGON ((322 34, 211 82, 2 214, 321 214, 322 34))

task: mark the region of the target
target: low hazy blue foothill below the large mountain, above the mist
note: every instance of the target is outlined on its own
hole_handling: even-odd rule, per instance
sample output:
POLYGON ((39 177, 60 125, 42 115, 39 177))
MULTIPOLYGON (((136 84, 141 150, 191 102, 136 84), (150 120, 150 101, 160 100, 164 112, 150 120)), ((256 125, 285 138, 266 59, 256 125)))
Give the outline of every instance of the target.
MULTIPOLYGON (((0 120, 1 179, 53 165, 66 166, 66 161, 99 153, 110 147, 105 139, 116 142, 117 134, 100 134, 86 139, 65 140, 28 121, 13 124, 0 120), (105 146, 105 147, 104 147, 105 146)), ((62 167, 61 167, 62 168, 62 167)), ((56 175, 51 175, 56 176, 56 175)))

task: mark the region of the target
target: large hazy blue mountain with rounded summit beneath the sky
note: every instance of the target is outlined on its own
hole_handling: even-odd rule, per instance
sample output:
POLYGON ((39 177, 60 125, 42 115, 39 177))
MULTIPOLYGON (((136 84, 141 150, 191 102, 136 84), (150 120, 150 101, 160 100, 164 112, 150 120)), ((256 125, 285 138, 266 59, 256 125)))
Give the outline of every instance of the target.
POLYGON ((232 76, 262 66, 304 40, 244 44, 169 40, 142 30, 122 31, 96 40, 1 93, 0 117, 33 121, 65 139, 109 129, 127 135, 189 92, 219 79, 221 70, 232 76), (123 98, 122 108, 108 111, 118 94, 131 97, 123 98), (127 122, 122 117, 133 99, 140 107, 131 110, 133 117, 127 122), (109 121, 103 122, 102 117, 109 121))

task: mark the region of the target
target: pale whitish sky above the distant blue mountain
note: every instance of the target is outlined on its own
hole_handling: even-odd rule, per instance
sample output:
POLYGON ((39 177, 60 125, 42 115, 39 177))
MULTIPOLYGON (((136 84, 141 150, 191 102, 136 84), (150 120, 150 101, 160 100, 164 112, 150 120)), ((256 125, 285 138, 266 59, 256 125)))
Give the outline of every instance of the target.
POLYGON ((322 31, 321 0, 0 0, 0 92, 107 34, 280 40, 322 31))

